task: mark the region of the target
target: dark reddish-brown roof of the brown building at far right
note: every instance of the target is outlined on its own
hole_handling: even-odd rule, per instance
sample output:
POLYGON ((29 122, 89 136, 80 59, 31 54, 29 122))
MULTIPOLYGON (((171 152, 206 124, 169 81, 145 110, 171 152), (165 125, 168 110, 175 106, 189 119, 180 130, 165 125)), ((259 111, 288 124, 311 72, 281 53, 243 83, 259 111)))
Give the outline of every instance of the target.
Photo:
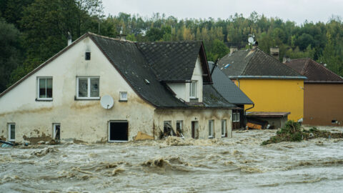
POLYGON ((327 69, 322 64, 317 63, 312 59, 292 59, 287 61, 287 66, 307 76, 305 82, 342 82, 342 77, 334 74, 334 72, 327 69))

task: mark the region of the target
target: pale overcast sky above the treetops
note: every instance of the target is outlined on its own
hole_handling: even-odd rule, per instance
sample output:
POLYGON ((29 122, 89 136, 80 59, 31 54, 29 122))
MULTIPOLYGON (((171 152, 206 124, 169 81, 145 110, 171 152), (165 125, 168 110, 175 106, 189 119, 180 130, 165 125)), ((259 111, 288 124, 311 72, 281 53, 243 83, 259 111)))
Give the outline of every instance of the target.
POLYGON ((277 16, 297 24, 308 21, 327 22, 332 15, 343 16, 343 0, 102 0, 106 16, 153 13, 175 16, 178 19, 227 19, 235 13, 249 16, 252 11, 267 17, 277 16))

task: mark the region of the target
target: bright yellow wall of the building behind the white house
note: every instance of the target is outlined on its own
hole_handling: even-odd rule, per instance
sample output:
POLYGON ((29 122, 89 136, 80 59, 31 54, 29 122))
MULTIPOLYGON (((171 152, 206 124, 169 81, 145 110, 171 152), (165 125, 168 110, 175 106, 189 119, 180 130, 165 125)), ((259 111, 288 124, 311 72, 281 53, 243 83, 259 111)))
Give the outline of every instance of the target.
POLYGON ((234 83, 255 104, 248 112, 291 112, 289 119, 294 121, 304 117, 303 80, 239 79, 234 83))

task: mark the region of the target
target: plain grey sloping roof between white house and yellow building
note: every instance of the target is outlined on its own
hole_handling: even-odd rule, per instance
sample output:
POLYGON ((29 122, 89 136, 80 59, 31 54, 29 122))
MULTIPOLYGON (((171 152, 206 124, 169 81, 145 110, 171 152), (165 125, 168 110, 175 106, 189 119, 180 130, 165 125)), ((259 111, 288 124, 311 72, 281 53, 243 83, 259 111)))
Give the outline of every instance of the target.
MULTIPOLYGON (((209 61, 209 69, 212 71, 214 63, 209 61)), ((212 73, 212 81, 214 88, 221 94, 228 102, 232 104, 253 104, 252 100, 239 89, 236 84, 232 82, 218 66, 214 68, 212 73)))

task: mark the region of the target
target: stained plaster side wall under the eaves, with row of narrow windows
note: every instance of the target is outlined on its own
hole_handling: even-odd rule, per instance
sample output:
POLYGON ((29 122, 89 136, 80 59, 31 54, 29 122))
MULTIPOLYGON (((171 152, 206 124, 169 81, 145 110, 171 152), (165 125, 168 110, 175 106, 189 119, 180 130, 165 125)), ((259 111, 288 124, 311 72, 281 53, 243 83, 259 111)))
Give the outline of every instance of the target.
POLYGON ((214 119, 214 138, 222 138, 222 119, 227 119, 227 137, 232 137, 231 109, 156 109, 154 113, 155 136, 163 132, 164 121, 172 121, 176 129, 177 121, 184 122, 184 137, 192 137, 192 122, 199 122, 199 139, 209 138, 209 120, 214 119))

